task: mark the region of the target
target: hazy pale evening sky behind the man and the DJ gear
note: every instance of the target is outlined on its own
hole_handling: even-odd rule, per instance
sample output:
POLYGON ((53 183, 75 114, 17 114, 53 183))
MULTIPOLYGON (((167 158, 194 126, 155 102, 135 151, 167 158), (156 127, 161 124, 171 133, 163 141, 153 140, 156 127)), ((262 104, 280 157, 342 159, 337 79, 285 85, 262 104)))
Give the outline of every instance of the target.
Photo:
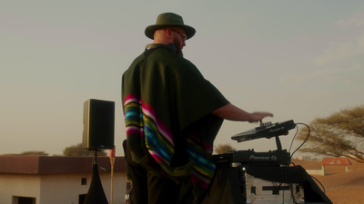
MULTIPOLYGON (((98 99, 116 103, 124 155, 121 76, 165 12, 197 30, 185 57, 229 102, 274 113, 266 122, 309 124, 364 103, 361 0, 0 0, 0 154, 62 154, 82 142, 84 102, 98 99)), ((275 140, 230 139, 257 126, 224 121, 215 145, 276 150, 275 140)), ((301 143, 295 132, 283 149, 301 143)))

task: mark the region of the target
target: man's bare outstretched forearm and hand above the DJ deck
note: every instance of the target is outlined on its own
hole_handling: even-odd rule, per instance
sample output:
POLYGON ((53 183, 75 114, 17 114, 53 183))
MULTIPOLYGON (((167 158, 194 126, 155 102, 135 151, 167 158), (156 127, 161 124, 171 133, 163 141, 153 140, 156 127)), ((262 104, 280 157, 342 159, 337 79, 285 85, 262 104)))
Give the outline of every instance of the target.
POLYGON ((228 103, 227 105, 212 112, 217 117, 229 120, 229 121, 262 121, 265 117, 273 117, 270 112, 245 112, 239 109, 237 106, 228 103))

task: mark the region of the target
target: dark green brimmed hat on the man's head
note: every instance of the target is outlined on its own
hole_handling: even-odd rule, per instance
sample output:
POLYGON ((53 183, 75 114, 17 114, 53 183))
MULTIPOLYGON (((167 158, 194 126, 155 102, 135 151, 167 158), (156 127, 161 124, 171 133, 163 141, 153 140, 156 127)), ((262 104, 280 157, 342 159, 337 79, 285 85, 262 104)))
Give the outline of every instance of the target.
POLYGON ((154 33, 161 28, 176 26, 181 27, 186 31, 187 39, 191 38, 196 34, 195 28, 184 24, 182 16, 176 15, 173 13, 164 13, 158 15, 156 24, 151 24, 147 26, 146 31, 144 32, 148 38, 154 39, 154 33))

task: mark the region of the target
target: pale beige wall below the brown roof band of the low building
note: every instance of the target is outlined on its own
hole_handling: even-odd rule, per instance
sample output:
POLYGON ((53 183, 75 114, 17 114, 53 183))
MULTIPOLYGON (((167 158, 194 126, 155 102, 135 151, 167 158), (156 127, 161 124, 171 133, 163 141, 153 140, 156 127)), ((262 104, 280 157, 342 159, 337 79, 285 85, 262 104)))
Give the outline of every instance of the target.
MULTIPOLYGON (((110 203, 110 172, 99 172, 110 203)), ((15 204, 13 197, 35 198, 35 204, 78 204, 79 195, 87 194, 92 173, 22 175, 0 174, 0 204, 15 204), (86 178, 86 185, 81 184, 86 178)), ((113 204, 125 203, 126 173, 114 173, 113 204)))

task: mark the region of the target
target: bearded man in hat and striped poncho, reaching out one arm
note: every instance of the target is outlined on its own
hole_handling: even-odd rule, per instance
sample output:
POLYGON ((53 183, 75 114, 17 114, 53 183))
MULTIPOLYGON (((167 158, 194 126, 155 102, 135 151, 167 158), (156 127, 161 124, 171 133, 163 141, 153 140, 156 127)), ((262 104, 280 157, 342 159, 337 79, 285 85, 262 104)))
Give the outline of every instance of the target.
POLYGON ((183 57, 196 30, 165 13, 147 26, 153 39, 123 74, 126 164, 134 204, 200 203, 215 172, 212 147, 224 119, 262 121, 245 112, 183 57), (193 201, 192 201, 193 200, 193 201))

